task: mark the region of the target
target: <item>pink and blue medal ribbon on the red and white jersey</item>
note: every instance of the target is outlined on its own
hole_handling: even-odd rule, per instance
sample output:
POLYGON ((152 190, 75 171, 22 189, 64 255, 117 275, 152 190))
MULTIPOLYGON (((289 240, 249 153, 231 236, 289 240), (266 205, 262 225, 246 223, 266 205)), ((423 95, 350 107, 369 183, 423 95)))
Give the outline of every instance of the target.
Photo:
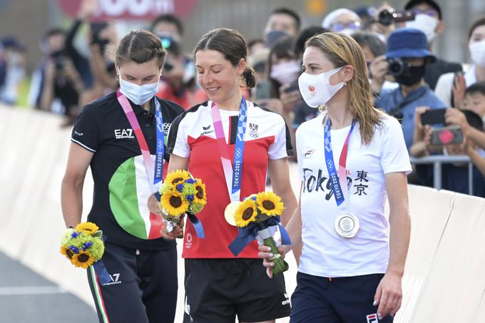
MULTIPOLYGON (((247 123, 247 103, 244 98, 241 99, 241 107, 238 117, 238 135, 234 149, 233 165, 230 161, 230 153, 226 144, 223 123, 220 118, 220 111, 214 102, 210 102, 210 113, 213 119, 215 139, 218 143, 220 162, 223 164, 224 177, 228 186, 229 198, 231 201, 240 201, 241 180, 242 180, 242 156, 244 155, 244 134, 247 123)), ((230 131, 228 131, 230 133, 230 131)))

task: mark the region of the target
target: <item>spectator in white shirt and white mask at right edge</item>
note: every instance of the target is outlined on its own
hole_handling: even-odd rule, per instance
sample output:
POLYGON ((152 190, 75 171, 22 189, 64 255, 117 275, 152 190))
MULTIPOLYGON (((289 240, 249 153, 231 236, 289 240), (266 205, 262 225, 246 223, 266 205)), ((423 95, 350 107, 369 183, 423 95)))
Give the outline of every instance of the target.
POLYGON ((468 48, 473 65, 461 75, 446 73, 439 77, 434 93, 446 106, 460 108, 467 87, 485 81, 485 16, 471 24, 468 33, 468 48))

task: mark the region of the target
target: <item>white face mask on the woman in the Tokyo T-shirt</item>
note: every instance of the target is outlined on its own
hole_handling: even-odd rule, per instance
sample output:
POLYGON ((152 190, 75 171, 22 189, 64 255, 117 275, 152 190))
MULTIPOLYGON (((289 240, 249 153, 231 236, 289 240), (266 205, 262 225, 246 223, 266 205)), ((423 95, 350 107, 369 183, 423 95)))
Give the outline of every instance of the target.
POLYGON ((300 75, 300 78, 298 78, 298 86, 300 87, 303 100, 305 100, 308 106, 318 108, 318 106, 327 103, 344 86, 344 82, 337 83, 335 86, 330 85, 330 76, 342 68, 343 66, 317 75, 311 75, 309 73, 302 73, 300 75))

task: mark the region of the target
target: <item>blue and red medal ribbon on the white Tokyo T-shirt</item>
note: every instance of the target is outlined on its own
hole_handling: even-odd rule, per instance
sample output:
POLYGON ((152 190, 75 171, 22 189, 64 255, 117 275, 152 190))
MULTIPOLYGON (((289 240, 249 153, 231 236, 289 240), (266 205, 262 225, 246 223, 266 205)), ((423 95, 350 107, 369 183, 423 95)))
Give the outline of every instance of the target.
MULTIPOLYGON (((339 159, 339 169, 335 169, 333 151, 332 151, 332 137, 330 135, 330 117, 327 115, 327 121, 325 122, 325 127, 323 128, 324 138, 325 138, 325 165, 327 165, 328 175, 330 178, 330 183, 332 183, 332 190, 335 196, 335 201, 337 206, 342 205, 344 200, 348 200, 348 188, 347 188, 347 151, 349 148, 349 138, 354 129, 354 121, 350 126, 349 134, 345 138, 344 146, 342 148, 342 153, 339 159), (338 172, 338 175, 337 175, 338 172), (344 190, 342 190, 344 188, 344 190)), ((346 207, 342 205, 342 209, 345 210, 346 207)))

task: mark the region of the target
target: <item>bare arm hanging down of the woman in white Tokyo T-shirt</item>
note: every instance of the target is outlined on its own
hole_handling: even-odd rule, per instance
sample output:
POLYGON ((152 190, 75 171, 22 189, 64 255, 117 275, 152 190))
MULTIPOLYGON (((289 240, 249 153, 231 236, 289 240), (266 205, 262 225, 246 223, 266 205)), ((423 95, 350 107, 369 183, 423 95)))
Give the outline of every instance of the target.
POLYGON ((407 177, 404 172, 386 174, 389 199, 389 264, 377 287, 374 304, 379 304, 377 315, 396 314, 402 301, 402 275, 409 247, 411 218, 407 197, 407 177))

